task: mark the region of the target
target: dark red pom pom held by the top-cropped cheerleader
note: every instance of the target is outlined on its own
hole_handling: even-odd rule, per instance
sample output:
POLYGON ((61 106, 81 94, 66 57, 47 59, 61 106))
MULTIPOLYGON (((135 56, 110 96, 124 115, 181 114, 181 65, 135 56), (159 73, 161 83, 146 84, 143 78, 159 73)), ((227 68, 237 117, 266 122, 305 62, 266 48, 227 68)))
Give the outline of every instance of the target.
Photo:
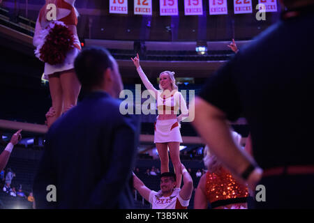
POLYGON ((74 35, 63 22, 52 22, 43 32, 43 45, 38 46, 36 56, 41 61, 56 65, 63 63, 66 54, 73 49, 74 35))

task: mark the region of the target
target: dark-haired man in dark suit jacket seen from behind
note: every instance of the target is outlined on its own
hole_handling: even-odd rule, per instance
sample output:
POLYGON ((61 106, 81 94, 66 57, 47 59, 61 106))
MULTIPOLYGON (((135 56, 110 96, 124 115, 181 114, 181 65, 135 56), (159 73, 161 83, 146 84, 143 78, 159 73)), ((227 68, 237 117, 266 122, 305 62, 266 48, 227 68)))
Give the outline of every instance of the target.
POLYGON ((101 48, 83 50, 75 72, 87 91, 46 136, 33 184, 36 208, 132 208, 136 116, 119 111, 117 62, 101 48))

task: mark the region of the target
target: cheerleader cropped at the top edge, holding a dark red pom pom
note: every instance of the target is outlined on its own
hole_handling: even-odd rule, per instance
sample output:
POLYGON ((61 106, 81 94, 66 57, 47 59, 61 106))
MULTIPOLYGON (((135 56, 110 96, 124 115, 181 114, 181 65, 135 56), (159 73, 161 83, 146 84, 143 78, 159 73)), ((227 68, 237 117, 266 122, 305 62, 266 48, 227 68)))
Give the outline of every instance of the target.
MULTIPOLYGON (((80 40, 77 37, 77 10, 74 6, 75 0, 46 0, 45 6, 40 9, 38 20, 36 22, 35 34, 33 36, 33 45, 36 49, 36 56, 43 60, 43 45, 46 43, 46 37, 50 34, 50 30, 54 29, 56 24, 66 26, 71 34, 73 34, 73 43, 70 50, 65 53, 64 59, 59 63, 45 62, 44 79, 49 80, 50 94, 52 97, 52 107, 47 112, 47 125, 50 125, 77 103, 77 97, 80 93, 80 82, 78 81, 74 71, 74 60, 80 52, 80 40), (47 7, 49 4, 56 6, 56 19, 48 21, 47 13, 51 13, 52 8, 47 7)), ((61 38, 57 36, 56 39, 61 38)), ((54 56, 50 47, 45 47, 47 56, 54 56)), ((46 58, 47 58, 46 56, 46 58)), ((51 60, 50 60, 51 61, 51 60)))

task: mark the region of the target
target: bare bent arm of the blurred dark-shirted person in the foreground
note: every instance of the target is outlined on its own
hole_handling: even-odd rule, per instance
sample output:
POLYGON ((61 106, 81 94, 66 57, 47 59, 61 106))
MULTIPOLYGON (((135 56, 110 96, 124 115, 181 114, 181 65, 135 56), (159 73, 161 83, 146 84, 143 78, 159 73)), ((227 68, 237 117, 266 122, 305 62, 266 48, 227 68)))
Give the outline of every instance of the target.
POLYGON ((226 114, 199 97, 195 98, 195 111, 198 111, 193 121, 195 129, 234 176, 242 178, 241 175, 251 164, 255 166, 254 171, 246 179, 249 187, 255 190, 255 184, 262 177, 262 169, 257 166, 253 157, 234 144, 226 114))

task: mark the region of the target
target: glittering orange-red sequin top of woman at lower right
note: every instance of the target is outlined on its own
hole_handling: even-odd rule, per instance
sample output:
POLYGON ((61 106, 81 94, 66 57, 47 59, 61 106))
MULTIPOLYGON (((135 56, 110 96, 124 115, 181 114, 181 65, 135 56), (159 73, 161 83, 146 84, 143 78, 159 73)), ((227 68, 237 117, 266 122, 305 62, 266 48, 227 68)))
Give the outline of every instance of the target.
POLYGON ((229 171, 220 168, 218 174, 207 171, 205 194, 211 208, 232 203, 246 203, 248 188, 237 183, 229 171))

